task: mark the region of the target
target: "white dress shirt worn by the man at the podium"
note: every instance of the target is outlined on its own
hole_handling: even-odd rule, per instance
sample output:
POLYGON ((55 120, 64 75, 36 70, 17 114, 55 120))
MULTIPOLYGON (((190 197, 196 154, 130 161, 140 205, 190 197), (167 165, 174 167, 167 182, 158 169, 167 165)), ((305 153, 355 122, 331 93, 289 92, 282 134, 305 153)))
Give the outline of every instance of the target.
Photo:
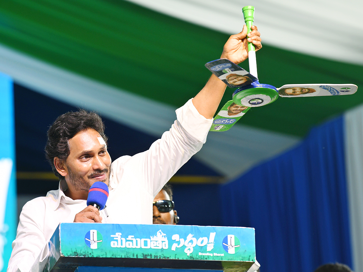
MULTIPOLYGON (((190 99, 176 110, 177 120, 149 150, 119 157, 111 164, 108 217, 102 223, 152 224, 152 201, 176 171, 198 152, 207 139, 212 119, 196 110, 190 99)), ((120 143, 122 144, 122 143, 120 143)), ((23 207, 7 272, 28 272, 61 222, 73 222, 86 200, 66 197, 67 184, 23 207)))

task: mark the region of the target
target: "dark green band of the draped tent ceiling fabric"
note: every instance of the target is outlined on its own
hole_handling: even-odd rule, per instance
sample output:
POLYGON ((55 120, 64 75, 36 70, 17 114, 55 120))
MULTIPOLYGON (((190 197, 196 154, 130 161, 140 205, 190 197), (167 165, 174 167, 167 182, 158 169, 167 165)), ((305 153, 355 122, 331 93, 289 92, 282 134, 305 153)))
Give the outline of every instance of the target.
MULTIPOLYGON (((225 33, 126 1, 13 0, 0 7, 3 45, 174 107, 204 86, 210 75, 204 63, 220 57, 227 38, 225 33)), ((257 63, 260 81, 276 87, 313 82, 362 86, 360 65, 272 46, 258 51, 257 63)), ((241 65, 248 69, 247 62, 241 65)), ((227 89, 221 106, 231 99, 232 91, 227 89)), ((361 92, 344 97, 280 98, 250 110, 238 123, 301 137, 312 125, 362 102, 361 92)))

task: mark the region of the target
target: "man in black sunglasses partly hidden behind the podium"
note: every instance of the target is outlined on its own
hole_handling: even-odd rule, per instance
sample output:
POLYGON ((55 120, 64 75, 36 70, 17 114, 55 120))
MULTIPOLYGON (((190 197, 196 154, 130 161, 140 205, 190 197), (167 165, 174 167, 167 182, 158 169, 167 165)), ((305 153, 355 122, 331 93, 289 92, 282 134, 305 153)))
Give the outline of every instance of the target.
POLYGON ((175 225, 178 222, 179 216, 174 210, 173 191, 169 184, 165 184, 152 202, 152 223, 175 225))

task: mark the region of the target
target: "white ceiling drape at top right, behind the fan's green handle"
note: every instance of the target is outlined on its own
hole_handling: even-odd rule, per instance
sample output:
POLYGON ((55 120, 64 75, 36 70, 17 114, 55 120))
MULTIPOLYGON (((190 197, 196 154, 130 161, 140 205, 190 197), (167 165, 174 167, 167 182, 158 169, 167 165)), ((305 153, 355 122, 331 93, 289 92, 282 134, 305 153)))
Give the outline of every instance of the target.
POLYGON ((166 15, 236 34, 242 7, 255 7, 265 44, 316 57, 363 64, 360 0, 128 0, 166 15))

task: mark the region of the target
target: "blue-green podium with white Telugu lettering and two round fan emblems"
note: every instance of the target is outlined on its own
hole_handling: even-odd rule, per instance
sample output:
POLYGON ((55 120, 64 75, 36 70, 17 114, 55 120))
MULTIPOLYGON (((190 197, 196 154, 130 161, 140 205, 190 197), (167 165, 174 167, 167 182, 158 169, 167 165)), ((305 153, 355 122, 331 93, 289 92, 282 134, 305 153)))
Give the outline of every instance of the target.
POLYGON ((245 272, 254 236, 244 227, 61 223, 30 271, 245 272))

